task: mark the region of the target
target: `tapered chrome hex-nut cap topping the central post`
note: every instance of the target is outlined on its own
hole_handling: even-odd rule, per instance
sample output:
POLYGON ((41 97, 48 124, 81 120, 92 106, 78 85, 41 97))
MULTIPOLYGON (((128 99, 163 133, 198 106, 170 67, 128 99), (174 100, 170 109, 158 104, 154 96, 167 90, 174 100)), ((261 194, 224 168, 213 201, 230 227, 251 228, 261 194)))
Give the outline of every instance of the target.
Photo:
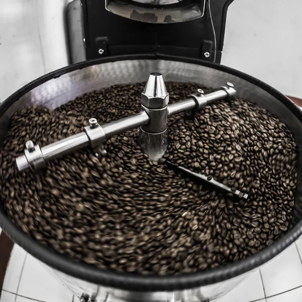
POLYGON ((163 75, 159 72, 150 73, 146 86, 141 94, 141 104, 149 109, 165 108, 169 103, 163 75))

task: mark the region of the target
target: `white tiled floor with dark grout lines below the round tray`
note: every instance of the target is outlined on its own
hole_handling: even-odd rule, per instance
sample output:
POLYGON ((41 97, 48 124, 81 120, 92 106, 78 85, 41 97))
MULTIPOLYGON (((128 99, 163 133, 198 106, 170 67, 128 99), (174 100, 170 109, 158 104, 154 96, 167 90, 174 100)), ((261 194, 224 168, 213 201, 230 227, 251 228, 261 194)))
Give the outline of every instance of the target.
MULTIPOLYGON (((1 230, 0 230, 1 232, 1 230)), ((301 302, 302 237, 218 302, 301 302)), ((14 246, 0 302, 77 302, 31 255, 14 246)))

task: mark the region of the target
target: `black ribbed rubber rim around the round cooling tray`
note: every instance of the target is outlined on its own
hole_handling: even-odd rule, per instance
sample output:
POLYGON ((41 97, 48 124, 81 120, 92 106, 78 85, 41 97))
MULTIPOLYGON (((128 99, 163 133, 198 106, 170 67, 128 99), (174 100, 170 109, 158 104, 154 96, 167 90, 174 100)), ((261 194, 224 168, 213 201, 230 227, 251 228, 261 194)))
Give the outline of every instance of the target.
MULTIPOLYGON (((215 68, 230 74, 236 75, 244 80, 247 80, 263 90, 270 93, 272 96, 282 102, 292 113, 302 122, 302 112, 298 107, 291 102, 282 93, 269 85, 261 82, 258 79, 251 77, 248 74, 240 72, 238 70, 225 67, 222 65, 209 63, 206 61, 191 59, 185 57, 167 56, 162 54, 142 54, 142 55, 124 55, 124 56, 112 56, 101 58, 97 60, 85 61, 78 64, 73 64, 54 72, 48 73, 43 77, 31 82, 24 86, 16 93, 6 99, 0 106, 0 116, 22 95, 39 86, 40 84, 57 78, 60 75, 70 72, 75 69, 81 69, 90 65, 120 61, 120 60, 137 60, 137 59, 162 59, 172 61, 182 61, 198 65, 203 65, 211 68, 215 68)), ((181 290, 193 287, 204 286, 213 284, 216 282, 224 281, 247 271, 250 271, 265 262, 271 260, 281 251, 286 249, 291 243, 293 243, 302 233, 302 220, 300 220, 293 229, 285 234, 278 242, 272 246, 265 248, 259 253, 249 256, 244 260, 240 260, 235 263, 227 264, 219 268, 207 269, 204 271, 182 274, 179 276, 141 276, 138 274, 130 273, 118 273, 109 270, 102 270, 95 268, 92 265, 85 264, 83 262, 75 262, 70 260, 64 255, 61 255, 43 245, 40 245, 37 241, 28 237, 23 231, 21 231, 16 225, 14 225, 6 216, 4 209, 0 210, 0 225, 3 230, 22 248, 24 248, 31 255, 38 260, 44 262, 50 267, 57 269, 67 275, 86 280, 99 285, 110 286, 125 290, 133 291, 169 291, 169 290, 181 290)))

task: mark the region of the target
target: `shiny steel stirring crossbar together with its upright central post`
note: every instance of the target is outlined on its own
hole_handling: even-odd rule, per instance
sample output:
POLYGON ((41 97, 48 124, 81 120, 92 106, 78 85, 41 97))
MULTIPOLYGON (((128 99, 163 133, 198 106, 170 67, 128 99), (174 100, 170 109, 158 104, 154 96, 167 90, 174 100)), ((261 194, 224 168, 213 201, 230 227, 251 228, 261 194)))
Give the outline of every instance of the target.
POLYGON ((140 127, 138 143, 143 152, 152 160, 158 160, 168 146, 167 118, 169 116, 185 111, 194 112, 207 104, 231 98, 235 94, 234 86, 228 83, 227 86, 210 94, 203 95, 199 90, 199 95, 192 95, 187 100, 168 105, 169 94, 162 74, 151 73, 142 93, 140 113, 104 125, 99 125, 97 120, 92 118, 84 132, 41 148, 28 141, 24 155, 16 159, 17 167, 20 172, 30 169, 35 171, 45 167, 47 162, 78 149, 88 146, 98 149, 111 136, 137 127, 140 127))

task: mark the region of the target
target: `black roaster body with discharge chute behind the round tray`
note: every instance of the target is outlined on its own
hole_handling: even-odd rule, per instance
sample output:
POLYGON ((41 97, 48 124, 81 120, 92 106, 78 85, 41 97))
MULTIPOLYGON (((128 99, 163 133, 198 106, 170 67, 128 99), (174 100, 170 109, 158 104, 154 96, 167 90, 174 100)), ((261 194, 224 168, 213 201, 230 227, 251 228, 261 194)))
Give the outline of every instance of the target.
POLYGON ((70 63, 138 53, 220 63, 226 12, 232 2, 74 0, 66 10, 70 63))

